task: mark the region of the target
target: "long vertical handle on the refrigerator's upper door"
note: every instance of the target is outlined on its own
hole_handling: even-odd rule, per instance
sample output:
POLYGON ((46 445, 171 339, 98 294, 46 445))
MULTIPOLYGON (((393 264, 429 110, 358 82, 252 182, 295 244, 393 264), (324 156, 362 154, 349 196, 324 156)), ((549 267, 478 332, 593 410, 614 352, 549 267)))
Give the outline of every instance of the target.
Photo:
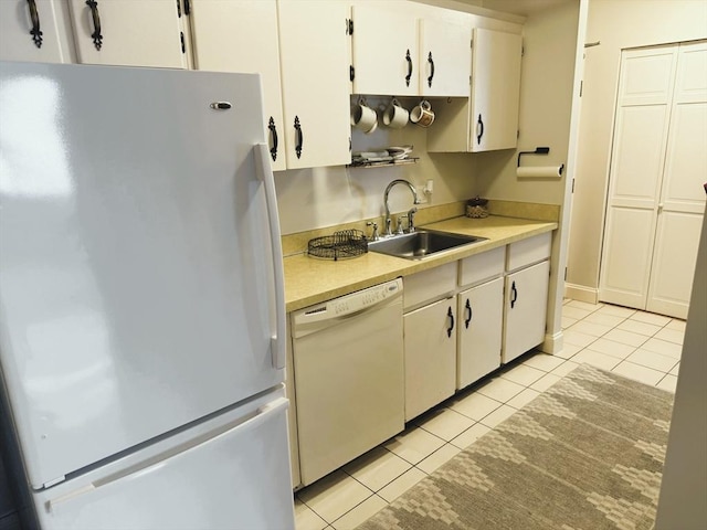
POLYGON ((271 338, 273 367, 285 368, 285 273, 283 266, 283 247, 279 241, 279 218, 277 215, 277 197, 275 195, 275 178, 270 165, 270 149, 265 144, 255 145, 255 165, 265 186, 267 219, 270 221, 270 240, 273 250, 273 267, 275 272, 275 335, 271 338))

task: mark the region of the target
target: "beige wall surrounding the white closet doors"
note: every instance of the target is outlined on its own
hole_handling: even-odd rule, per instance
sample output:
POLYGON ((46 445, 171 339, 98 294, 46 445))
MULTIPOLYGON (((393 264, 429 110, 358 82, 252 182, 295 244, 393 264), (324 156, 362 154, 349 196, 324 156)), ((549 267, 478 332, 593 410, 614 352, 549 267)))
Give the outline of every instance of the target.
POLYGON ((590 0, 568 295, 595 299, 621 50, 707 36, 705 0, 590 0))

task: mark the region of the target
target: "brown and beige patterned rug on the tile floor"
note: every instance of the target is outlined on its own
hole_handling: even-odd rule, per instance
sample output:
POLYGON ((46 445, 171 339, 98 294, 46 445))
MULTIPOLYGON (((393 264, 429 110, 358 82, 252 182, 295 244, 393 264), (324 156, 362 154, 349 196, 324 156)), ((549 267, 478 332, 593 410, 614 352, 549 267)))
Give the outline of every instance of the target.
POLYGON ((651 529, 673 399, 580 365, 358 530, 651 529))

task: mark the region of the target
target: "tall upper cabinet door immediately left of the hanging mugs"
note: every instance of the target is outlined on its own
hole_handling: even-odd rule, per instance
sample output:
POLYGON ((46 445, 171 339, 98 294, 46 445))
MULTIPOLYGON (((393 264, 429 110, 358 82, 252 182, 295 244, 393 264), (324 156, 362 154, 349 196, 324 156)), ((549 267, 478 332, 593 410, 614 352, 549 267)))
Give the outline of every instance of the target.
POLYGON ((277 6, 287 169, 350 163, 348 3, 277 6))

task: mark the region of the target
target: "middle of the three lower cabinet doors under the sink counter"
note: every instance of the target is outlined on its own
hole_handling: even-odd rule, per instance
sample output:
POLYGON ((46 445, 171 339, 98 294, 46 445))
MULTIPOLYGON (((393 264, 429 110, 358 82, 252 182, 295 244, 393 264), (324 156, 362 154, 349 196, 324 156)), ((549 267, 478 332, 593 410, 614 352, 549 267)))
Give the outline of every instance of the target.
POLYGON ((460 293, 457 315, 456 388, 463 389, 500 367, 504 278, 460 293))

